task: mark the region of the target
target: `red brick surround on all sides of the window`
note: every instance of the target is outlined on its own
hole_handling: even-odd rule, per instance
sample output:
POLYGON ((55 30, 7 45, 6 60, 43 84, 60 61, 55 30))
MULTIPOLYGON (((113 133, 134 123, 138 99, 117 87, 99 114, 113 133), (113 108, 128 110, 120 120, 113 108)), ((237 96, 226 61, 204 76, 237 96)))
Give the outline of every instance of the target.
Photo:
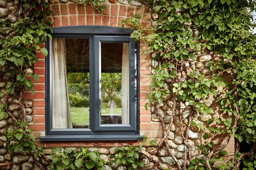
MULTIPOLYGON (((121 27, 120 21, 127 17, 132 17, 134 14, 142 16, 143 26, 151 28, 151 14, 148 7, 138 4, 139 6, 131 6, 130 4, 122 3, 105 3, 107 9, 102 14, 94 11, 89 5, 83 3, 57 3, 53 2, 52 10, 56 12, 53 17, 54 27, 62 26, 113 26, 121 27)), ((129 28, 129 26, 128 26, 129 28)), ((149 76, 151 74, 150 53, 143 54, 143 51, 148 49, 148 45, 141 41, 140 43, 140 135, 152 137, 151 130, 157 132, 160 130, 159 123, 151 122, 151 112, 146 111, 144 106, 147 102, 148 88, 150 85, 149 76)), ((39 82, 35 82, 35 95, 25 91, 25 99, 34 100, 34 123, 31 125, 32 130, 38 139, 45 135, 45 57, 37 51, 38 63, 35 64, 34 71, 40 77, 39 82)), ((155 134, 155 133, 154 133, 155 134)), ((153 137, 157 137, 154 135, 153 137)), ((112 147, 123 144, 124 142, 45 142, 41 143, 44 147, 55 146, 101 146, 112 147)), ((138 142, 126 142, 127 144, 135 144, 138 142)))

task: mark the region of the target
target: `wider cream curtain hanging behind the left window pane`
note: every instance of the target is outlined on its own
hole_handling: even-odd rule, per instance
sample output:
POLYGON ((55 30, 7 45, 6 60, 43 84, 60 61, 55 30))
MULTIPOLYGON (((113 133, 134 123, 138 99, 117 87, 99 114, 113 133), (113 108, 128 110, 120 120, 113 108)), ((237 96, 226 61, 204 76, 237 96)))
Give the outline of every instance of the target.
POLYGON ((52 40, 52 128, 72 128, 65 39, 52 40))

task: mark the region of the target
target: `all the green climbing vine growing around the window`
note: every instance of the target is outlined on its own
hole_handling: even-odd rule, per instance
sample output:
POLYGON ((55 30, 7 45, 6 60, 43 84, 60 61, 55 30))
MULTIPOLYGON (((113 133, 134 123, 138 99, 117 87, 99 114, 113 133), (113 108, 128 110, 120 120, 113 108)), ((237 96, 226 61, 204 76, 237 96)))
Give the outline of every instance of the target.
MULTIPOLYGON (((82 2, 89 3, 96 10, 104 10, 104 1, 82 2)), ((118 154, 111 156, 111 164, 122 163, 129 169, 136 169, 143 167, 141 158, 146 157, 154 162, 155 169, 163 169, 154 159, 154 154, 157 149, 166 147, 180 170, 239 169, 240 165, 253 170, 256 166, 256 37, 251 30, 256 26, 252 17, 256 2, 144 0, 143 3, 151 8, 155 23, 153 32, 142 26, 139 15, 122 21, 122 27, 131 24, 135 30, 131 37, 144 39, 151 47, 149 52, 155 67, 151 75, 149 102, 145 107, 155 108, 154 114, 162 125, 163 138, 157 144, 151 143, 155 146, 148 150, 141 146, 116 148, 118 154), (214 99, 219 107, 218 114, 207 105, 209 99, 214 99), (159 109, 166 100, 172 105, 167 126, 159 109), (189 114, 184 114, 185 109, 189 114), (201 115, 213 115, 214 119, 208 119, 203 125, 197 121, 201 115), (167 138, 175 119, 180 122, 185 144, 183 164, 175 158, 167 138), (203 160, 191 156, 188 138, 190 130, 195 127, 204 131, 205 142, 200 146, 206 156, 203 160), (218 135, 226 136, 221 144, 216 141, 218 135), (225 148, 233 136, 236 139, 235 161, 227 161, 225 148), (240 144, 250 146, 251 150, 243 152, 240 144), (126 152, 129 154, 125 155, 126 152)), ((22 0, 19 7, 16 23, 0 20, 1 28, 9 28, 6 30, 9 36, 0 39, 0 65, 6 71, 4 76, 10 80, 6 89, 0 92, 0 118, 10 116, 16 123, 14 130, 9 130, 6 135, 7 147, 13 152, 27 152, 44 170, 36 158, 50 160, 44 156, 44 150, 35 142, 35 136, 25 123, 22 89, 35 93, 33 82, 39 77, 31 67, 38 61, 36 51, 45 56, 48 53, 43 44, 47 37, 52 38, 50 18, 54 11, 43 0, 22 0), (9 111, 9 98, 18 100, 20 120, 9 111)), ((85 148, 80 151, 57 148, 52 156, 52 169, 58 170, 102 169, 105 164, 99 153, 88 152, 85 148), (84 160, 87 163, 84 164, 84 160)))

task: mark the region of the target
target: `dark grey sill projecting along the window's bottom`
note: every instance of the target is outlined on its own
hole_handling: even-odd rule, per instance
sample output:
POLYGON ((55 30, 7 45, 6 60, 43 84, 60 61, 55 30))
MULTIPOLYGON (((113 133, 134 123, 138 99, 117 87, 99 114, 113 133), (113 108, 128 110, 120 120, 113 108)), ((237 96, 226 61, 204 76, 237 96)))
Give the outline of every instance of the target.
POLYGON ((41 136, 42 142, 57 141, 139 141, 143 136, 132 135, 47 135, 41 136))

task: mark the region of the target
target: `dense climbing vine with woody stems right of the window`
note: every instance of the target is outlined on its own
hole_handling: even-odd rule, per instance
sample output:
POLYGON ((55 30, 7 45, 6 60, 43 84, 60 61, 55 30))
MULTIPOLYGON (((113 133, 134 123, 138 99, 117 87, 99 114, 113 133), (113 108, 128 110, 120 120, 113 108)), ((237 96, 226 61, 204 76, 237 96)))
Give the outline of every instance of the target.
POLYGON ((157 63, 151 75, 150 102, 145 107, 155 108, 162 124, 163 139, 149 152, 154 154, 158 148, 166 147, 179 169, 238 169, 242 160, 243 166, 253 170, 256 161, 256 37, 251 30, 255 28, 252 12, 256 2, 146 0, 145 3, 151 7, 151 15, 157 22, 153 33, 148 35, 135 18, 128 18, 123 26, 130 23, 136 29, 132 37, 148 42, 152 60, 157 63), (168 127, 159 111, 160 103, 166 98, 172 101, 168 127), (217 115, 207 106, 209 99, 216 100, 220 108, 217 115), (182 110, 189 110, 189 115, 182 110), (183 164, 175 159, 167 139, 175 115, 185 143, 183 164), (195 119, 198 115, 213 115, 214 119, 209 118, 204 126, 195 119), (191 156, 188 134, 195 126, 204 130, 205 142, 200 149, 206 155, 205 160, 191 156), (226 141, 218 144, 218 135, 226 136, 226 141), (236 139, 236 160, 227 161, 225 148, 232 136, 236 139), (251 146, 251 150, 243 153, 241 142, 251 146), (186 160, 191 163, 187 165, 186 160))

